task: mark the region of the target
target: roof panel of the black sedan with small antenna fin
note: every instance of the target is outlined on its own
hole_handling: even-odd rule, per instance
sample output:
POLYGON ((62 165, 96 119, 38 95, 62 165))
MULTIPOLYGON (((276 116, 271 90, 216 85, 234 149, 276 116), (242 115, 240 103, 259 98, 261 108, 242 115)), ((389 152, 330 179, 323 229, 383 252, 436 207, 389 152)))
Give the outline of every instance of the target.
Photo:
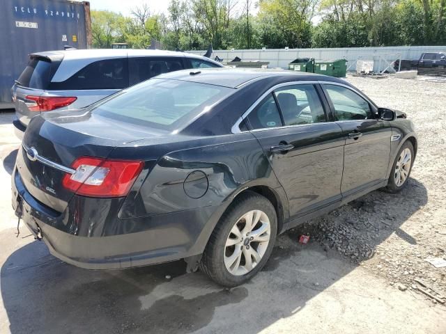
POLYGON ((340 82, 344 84, 344 81, 340 79, 328 77, 323 74, 295 72, 280 69, 242 69, 230 67, 181 70, 161 74, 157 78, 184 80, 201 84, 224 86, 229 88, 240 88, 242 86, 246 86, 247 84, 249 84, 249 82, 259 81, 261 79, 283 79, 284 82, 321 80, 340 82))

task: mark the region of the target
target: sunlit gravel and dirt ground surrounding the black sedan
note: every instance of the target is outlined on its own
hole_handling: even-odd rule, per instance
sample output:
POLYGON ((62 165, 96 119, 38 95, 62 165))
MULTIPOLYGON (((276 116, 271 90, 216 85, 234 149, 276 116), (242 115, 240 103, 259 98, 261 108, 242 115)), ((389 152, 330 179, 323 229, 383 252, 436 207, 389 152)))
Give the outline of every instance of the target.
POLYGON ((415 123, 408 187, 374 191, 286 232, 265 269, 234 289, 186 274, 183 262, 78 269, 23 226, 16 237, 9 184, 19 142, 12 115, 1 114, 0 333, 446 333, 446 306, 417 290, 446 296, 446 267, 425 261, 446 256, 446 84, 347 80, 415 123), (298 244, 302 233, 309 244, 298 244))

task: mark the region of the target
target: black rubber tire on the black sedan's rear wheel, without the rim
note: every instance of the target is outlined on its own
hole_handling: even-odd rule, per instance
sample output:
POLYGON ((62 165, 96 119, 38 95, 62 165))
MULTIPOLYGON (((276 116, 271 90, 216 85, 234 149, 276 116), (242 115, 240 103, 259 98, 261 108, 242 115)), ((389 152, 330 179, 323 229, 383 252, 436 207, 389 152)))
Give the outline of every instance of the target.
POLYGON ((209 278, 220 285, 225 287, 236 287, 237 285, 241 285, 256 275, 256 273, 258 273, 266 264, 271 255, 272 248, 274 247, 276 235, 277 214, 271 202, 258 193, 247 191, 234 200, 231 206, 226 209, 222 218, 220 218, 217 226, 215 226, 215 230, 211 234, 206 249, 204 250, 203 257, 201 257, 199 268, 203 273, 206 273, 209 278), (236 276, 226 269, 224 264, 224 246, 233 225, 238 219, 243 216, 243 214, 255 209, 263 211, 269 218, 270 241, 259 264, 245 275, 236 276))

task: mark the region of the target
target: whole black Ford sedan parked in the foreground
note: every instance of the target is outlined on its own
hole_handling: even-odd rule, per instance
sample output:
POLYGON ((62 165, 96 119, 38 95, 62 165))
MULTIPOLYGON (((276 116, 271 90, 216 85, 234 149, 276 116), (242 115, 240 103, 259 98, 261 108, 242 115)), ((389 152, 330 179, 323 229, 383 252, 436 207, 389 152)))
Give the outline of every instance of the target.
POLYGON ((416 152, 405 114, 340 79, 180 71, 34 117, 13 207, 78 267, 184 259, 235 286, 263 267, 277 234, 374 189, 403 189, 416 152))

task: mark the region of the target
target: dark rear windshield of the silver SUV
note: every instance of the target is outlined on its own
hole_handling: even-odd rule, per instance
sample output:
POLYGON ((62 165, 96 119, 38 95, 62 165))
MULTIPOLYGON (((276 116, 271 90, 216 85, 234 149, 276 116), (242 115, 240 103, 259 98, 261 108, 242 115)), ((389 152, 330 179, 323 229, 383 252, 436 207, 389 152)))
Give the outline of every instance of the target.
POLYGON ((43 58, 31 58, 17 81, 20 86, 47 89, 49 81, 51 81, 51 61, 43 58))

